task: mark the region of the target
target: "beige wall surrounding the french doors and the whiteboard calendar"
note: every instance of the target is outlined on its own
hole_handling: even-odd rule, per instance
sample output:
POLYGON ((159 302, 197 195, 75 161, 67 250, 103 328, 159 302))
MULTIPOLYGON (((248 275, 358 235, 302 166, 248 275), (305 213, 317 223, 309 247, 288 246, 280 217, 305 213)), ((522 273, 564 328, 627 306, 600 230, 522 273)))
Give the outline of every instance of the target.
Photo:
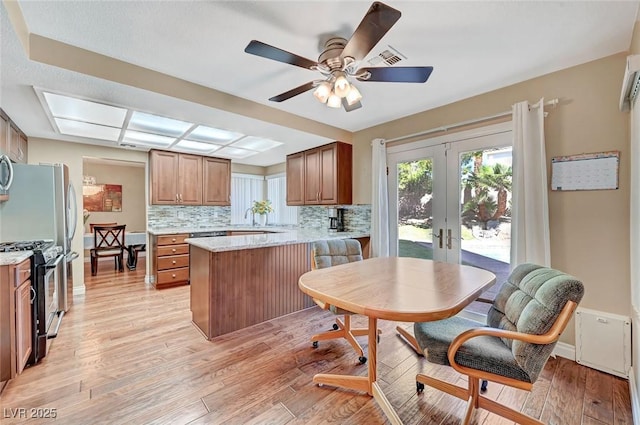
MULTIPOLYGON (((547 109, 547 158, 621 152, 620 189, 549 192, 552 266, 583 280, 581 306, 629 315, 629 114, 618 109, 626 53, 548 74, 354 135, 354 203, 371 202, 371 140, 391 139, 559 98, 547 109)), ((550 174, 549 174, 550 176, 550 174)), ((573 325, 562 341, 574 343, 573 325)))

